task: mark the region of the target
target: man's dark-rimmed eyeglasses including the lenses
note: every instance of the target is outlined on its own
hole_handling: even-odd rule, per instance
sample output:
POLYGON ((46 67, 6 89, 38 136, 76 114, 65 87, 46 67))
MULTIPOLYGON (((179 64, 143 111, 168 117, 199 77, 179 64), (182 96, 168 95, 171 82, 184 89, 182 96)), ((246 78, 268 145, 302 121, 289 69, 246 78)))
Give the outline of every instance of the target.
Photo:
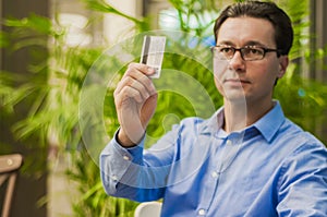
POLYGON ((241 57, 244 61, 254 61, 254 60, 262 60, 265 58, 266 52, 277 52, 277 56, 279 57, 280 50, 278 49, 270 49, 270 48, 264 48, 264 47, 257 47, 257 46, 246 46, 243 48, 234 48, 232 46, 214 46, 211 47, 211 52, 214 55, 214 58, 220 59, 220 60, 231 60, 235 52, 240 51, 241 57))

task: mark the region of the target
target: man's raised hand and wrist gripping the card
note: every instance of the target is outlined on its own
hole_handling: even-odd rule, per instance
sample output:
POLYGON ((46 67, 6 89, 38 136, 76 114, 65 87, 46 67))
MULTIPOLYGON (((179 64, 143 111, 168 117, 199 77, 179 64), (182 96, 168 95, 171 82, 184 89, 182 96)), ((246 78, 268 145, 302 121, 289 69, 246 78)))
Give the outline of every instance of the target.
POLYGON ((155 70, 141 63, 130 63, 113 96, 120 122, 118 140, 122 146, 140 143, 157 106, 157 91, 148 75, 155 70))

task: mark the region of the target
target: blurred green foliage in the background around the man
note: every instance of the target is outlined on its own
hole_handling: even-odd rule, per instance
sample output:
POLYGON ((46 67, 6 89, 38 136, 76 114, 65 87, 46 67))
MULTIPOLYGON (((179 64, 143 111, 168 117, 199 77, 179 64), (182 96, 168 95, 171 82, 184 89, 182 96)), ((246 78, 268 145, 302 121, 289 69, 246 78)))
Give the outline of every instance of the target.
MULTIPOLYGON (((114 14, 134 22, 135 35, 152 31, 149 17, 129 16, 102 0, 83 0, 83 2, 89 10, 114 14)), ((185 37, 181 36, 178 43, 167 45, 175 52, 165 53, 162 65, 165 80, 161 77, 160 82, 156 81, 156 85, 162 91, 159 93, 157 111, 148 129, 153 138, 149 138, 150 142, 184 117, 201 114, 207 118, 222 104, 210 72, 209 47, 213 45, 214 20, 204 23, 202 14, 209 12, 215 19, 222 9, 223 1, 169 0, 169 2, 178 14, 178 28, 180 33, 185 34, 185 37), (197 23, 195 27, 192 24, 194 21, 197 23), (177 77, 174 70, 187 76, 177 77), (194 100, 203 101, 198 104, 198 107, 192 108, 190 98, 181 94, 165 91, 165 86, 172 87, 180 79, 184 79, 185 82, 191 81, 192 84, 194 81, 198 82, 199 89, 194 89, 194 93, 190 95, 195 97, 194 100), (204 92, 201 87, 205 88, 207 96, 196 94, 204 92)), ((287 117, 303 129, 315 133, 314 130, 326 121, 327 86, 303 77, 303 62, 310 64, 314 61, 313 58, 324 58, 326 47, 316 51, 310 50, 308 39, 312 36, 307 32, 310 26, 307 0, 301 2, 279 0, 278 4, 292 19, 295 40, 290 53, 292 62, 286 77, 278 82, 275 97, 280 100, 287 117)), ((106 69, 118 69, 110 85, 106 86, 104 105, 99 107, 102 110, 100 113, 95 113, 104 120, 108 136, 113 135, 119 125, 112 92, 124 72, 125 62, 104 55, 109 45, 92 48, 66 46, 64 41, 66 29, 48 17, 31 14, 21 20, 7 19, 3 25, 8 29, 0 35, 0 46, 3 49, 15 52, 25 47, 33 47, 33 60, 27 69, 31 72, 29 76, 3 71, 0 74, 1 116, 12 116, 17 112, 17 105, 28 100, 31 105, 28 117, 15 122, 11 130, 16 135, 16 140, 36 140, 37 143, 34 144, 45 152, 38 165, 34 164, 35 156, 26 156, 24 172, 27 176, 35 176, 51 169, 47 165, 47 153, 55 146, 59 153, 66 153, 71 157, 72 164, 66 176, 75 181, 81 195, 77 201, 73 202, 75 216, 133 216, 137 203, 105 194, 99 179, 97 159, 90 156, 85 146, 82 137, 85 132, 81 131, 78 122, 81 118, 78 117, 80 96, 89 70, 98 67, 99 69, 96 70, 102 70, 106 73, 106 69), (48 53, 47 59, 40 57, 45 50, 48 53), (106 63, 101 64, 101 61, 106 63), (95 62, 98 62, 96 67, 95 62)), ((135 53, 134 60, 137 61, 138 51, 135 53)), ((89 121, 92 123, 92 120, 89 121)), ((326 144, 327 137, 317 136, 326 144)), ((104 147, 106 144, 98 145, 104 147)), ((1 153, 11 152, 10 146, 5 144, 1 144, 0 149, 1 153)), ((47 203, 47 200, 44 198, 40 203, 47 203)))

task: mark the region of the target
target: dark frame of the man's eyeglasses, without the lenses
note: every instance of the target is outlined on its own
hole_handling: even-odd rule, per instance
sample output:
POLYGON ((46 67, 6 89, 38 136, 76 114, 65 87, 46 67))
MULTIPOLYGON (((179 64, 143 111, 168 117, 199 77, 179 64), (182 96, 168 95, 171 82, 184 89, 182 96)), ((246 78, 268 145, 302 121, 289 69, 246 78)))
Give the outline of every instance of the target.
MULTIPOLYGON (((244 61, 256 61, 256 60, 263 60, 265 57, 266 57, 266 53, 267 52, 277 52, 277 57, 280 57, 281 56, 281 50, 280 49, 272 49, 272 48, 266 48, 266 47, 262 47, 262 46, 245 46, 245 47, 240 47, 240 48, 235 48, 235 47, 233 47, 233 46, 229 46, 229 45, 217 45, 217 46, 213 46, 213 47, 210 47, 210 50, 211 50, 211 53, 213 55, 215 55, 215 49, 216 48, 230 48, 230 49, 232 49, 233 50, 233 53, 232 53, 232 56, 231 57, 227 57, 227 56, 225 56, 223 55, 223 57, 227 59, 227 60, 231 60, 233 57, 234 57, 234 55, 235 55, 235 52, 237 51, 240 51, 240 53, 241 53, 241 58, 242 58, 242 60, 244 60, 244 61), (245 60, 244 59, 244 57, 243 57, 243 52, 242 52, 242 50, 244 50, 244 49, 256 49, 256 48, 258 48, 258 49, 262 49, 264 52, 263 52, 263 57, 261 58, 261 59, 253 59, 253 60, 245 60)), ((215 57, 215 56, 214 56, 215 57)))

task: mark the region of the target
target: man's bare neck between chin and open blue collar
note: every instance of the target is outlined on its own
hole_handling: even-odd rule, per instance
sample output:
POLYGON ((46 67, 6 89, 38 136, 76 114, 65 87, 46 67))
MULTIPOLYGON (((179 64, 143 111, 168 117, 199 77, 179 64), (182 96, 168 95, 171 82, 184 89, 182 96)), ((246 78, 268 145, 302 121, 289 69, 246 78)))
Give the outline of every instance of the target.
POLYGON ((266 103, 234 103, 225 100, 225 124, 227 133, 240 131, 252 125, 274 107, 272 100, 266 103))

